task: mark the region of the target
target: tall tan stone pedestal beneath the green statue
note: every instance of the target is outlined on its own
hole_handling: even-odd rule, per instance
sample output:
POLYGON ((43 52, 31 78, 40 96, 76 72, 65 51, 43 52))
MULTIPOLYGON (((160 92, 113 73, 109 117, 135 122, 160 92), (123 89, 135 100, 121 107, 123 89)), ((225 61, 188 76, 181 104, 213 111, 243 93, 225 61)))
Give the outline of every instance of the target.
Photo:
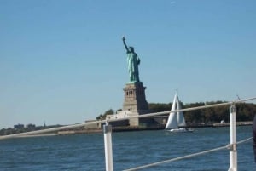
MULTIPOLYGON (((123 111, 131 111, 132 115, 143 115, 148 113, 148 102, 145 95, 146 87, 142 82, 126 83, 124 88, 125 101, 123 111)), ((138 125, 138 119, 132 119, 133 126, 138 125), (137 125, 136 125, 137 124, 137 125)))

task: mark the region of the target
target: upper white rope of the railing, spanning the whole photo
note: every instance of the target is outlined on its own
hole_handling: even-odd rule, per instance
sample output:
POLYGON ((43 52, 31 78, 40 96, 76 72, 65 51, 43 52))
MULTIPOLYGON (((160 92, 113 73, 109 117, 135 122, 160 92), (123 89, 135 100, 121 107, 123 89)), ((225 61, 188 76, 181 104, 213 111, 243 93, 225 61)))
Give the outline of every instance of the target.
MULTIPOLYGON (((244 100, 236 100, 236 101, 230 101, 230 102, 225 102, 225 103, 220 103, 220 104, 214 104, 214 105, 203 105, 203 106, 198 106, 198 107, 191 107, 191 108, 181 109, 181 110, 176 110, 176 111, 195 111, 195 110, 212 108, 212 107, 217 107, 217 106, 222 106, 222 105, 231 105, 231 104, 241 103, 241 102, 245 102, 245 101, 249 101, 249 100, 256 100, 256 97, 248 98, 248 99, 244 99, 244 100)), ((149 114, 143 114, 143 115, 137 115, 137 116, 131 116, 131 117, 124 117, 124 118, 117 118, 117 119, 106 119, 106 120, 94 121, 94 122, 90 122, 90 123, 77 123, 77 124, 67 125, 67 126, 58 127, 58 128, 47 128, 47 129, 43 129, 43 130, 31 131, 31 132, 20 133, 20 134, 9 134, 9 135, 0 136, 0 140, 10 139, 10 138, 15 138, 15 137, 20 137, 20 136, 26 136, 26 135, 44 134, 44 133, 60 131, 60 130, 68 129, 68 128, 79 128, 79 127, 83 127, 83 126, 95 124, 95 123, 109 123, 109 122, 115 122, 115 121, 123 121, 123 120, 131 119, 131 118, 154 117, 154 116, 159 116, 159 115, 163 115, 163 114, 168 114, 170 112, 171 111, 162 111, 162 112, 155 112, 155 113, 149 113, 149 114)), ((175 111, 173 111, 173 112, 175 112, 175 111)))

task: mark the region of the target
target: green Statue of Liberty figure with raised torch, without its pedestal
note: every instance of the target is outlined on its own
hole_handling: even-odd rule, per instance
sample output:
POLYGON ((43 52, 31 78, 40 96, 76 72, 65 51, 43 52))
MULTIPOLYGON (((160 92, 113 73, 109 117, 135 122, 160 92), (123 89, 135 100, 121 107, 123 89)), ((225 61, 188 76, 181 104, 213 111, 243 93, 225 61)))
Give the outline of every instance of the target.
POLYGON ((127 54, 127 62, 128 62, 128 71, 130 82, 135 83, 139 82, 139 72, 138 72, 138 65, 140 64, 140 59, 138 58, 137 54, 134 52, 133 47, 127 47, 125 43, 125 37, 123 37, 123 43, 125 45, 126 54, 127 54))

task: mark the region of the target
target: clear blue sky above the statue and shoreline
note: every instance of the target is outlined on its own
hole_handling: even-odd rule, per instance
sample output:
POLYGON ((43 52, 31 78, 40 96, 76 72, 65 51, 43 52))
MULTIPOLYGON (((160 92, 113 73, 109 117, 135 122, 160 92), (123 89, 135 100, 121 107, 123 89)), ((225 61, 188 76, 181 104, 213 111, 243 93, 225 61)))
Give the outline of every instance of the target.
MULTIPOLYGON (((122 108, 126 43, 149 103, 256 96, 255 0, 1 0, 0 128, 122 108)), ((255 103, 255 101, 251 101, 255 103)))

